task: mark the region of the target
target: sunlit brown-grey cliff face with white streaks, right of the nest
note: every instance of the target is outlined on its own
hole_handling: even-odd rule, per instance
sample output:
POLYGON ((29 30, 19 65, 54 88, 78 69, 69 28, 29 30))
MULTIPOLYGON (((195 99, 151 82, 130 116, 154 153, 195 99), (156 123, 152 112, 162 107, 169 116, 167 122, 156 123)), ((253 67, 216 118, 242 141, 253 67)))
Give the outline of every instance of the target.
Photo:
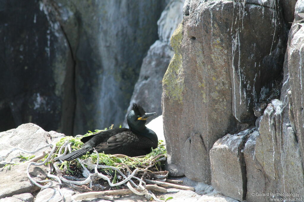
POLYGON ((163 78, 171 174, 237 200, 304 193, 302 25, 292 24, 288 37, 304 2, 294 5, 185 2, 163 78))

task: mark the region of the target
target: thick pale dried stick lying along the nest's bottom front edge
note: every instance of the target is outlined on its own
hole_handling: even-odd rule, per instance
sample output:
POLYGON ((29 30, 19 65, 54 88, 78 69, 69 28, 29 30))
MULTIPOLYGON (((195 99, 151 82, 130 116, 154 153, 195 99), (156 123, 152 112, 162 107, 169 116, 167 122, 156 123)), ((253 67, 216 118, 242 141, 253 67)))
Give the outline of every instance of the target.
MULTIPOLYGON (((147 190, 154 190, 162 193, 167 193, 167 190, 163 187, 158 187, 155 184, 147 184, 147 190)), ((138 190, 140 191, 140 190, 138 190)), ((122 194, 132 194, 133 192, 130 189, 118 189, 118 190, 107 190, 107 191, 92 191, 83 194, 76 194, 73 197, 73 200, 84 200, 87 198, 101 198, 105 195, 122 195, 122 194)))

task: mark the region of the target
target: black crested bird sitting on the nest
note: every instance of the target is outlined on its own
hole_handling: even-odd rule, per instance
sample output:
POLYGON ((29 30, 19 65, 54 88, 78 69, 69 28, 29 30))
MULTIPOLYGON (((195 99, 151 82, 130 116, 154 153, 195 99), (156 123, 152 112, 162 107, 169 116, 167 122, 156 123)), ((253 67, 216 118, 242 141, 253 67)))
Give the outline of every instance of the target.
POLYGON ((127 115, 130 129, 114 128, 98 132, 81 139, 85 143, 81 149, 59 157, 64 161, 71 161, 81 157, 95 148, 105 154, 124 154, 130 157, 149 154, 151 148, 157 147, 158 138, 154 131, 145 126, 148 117, 156 113, 146 113, 142 106, 134 103, 127 115))

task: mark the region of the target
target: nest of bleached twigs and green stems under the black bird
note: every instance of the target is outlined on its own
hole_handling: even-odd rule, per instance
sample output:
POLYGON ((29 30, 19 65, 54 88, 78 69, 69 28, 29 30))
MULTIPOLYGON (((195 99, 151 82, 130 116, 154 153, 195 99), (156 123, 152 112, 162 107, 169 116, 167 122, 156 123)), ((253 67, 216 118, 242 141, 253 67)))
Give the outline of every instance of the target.
MULTIPOLYGON (((99 130, 96 130, 99 132, 99 130)), ((84 136, 95 134, 89 131, 84 136)), ((104 198, 112 199, 109 195, 131 194, 145 195, 147 199, 154 198, 159 201, 151 190, 164 192, 166 189, 159 187, 170 186, 176 188, 185 188, 181 185, 168 183, 168 171, 163 170, 166 160, 166 148, 163 141, 159 141, 158 147, 153 149, 150 154, 140 157, 128 157, 122 154, 108 155, 98 153, 96 150, 92 154, 77 158, 73 161, 62 161, 58 159, 65 155, 67 151, 78 150, 83 144, 81 137, 67 136, 53 145, 52 150, 40 161, 41 163, 31 162, 27 168, 29 179, 41 188, 52 187, 53 180, 59 184, 67 184, 76 190, 86 191, 87 193, 77 194, 74 200, 86 198, 104 198), (38 184, 29 175, 31 165, 48 165, 48 177, 53 180, 42 180, 38 184), (167 180, 167 182, 165 182, 167 180), (98 192, 96 192, 98 191, 98 192)), ((169 180, 170 181, 170 180, 169 180)), ((180 181, 171 180, 170 182, 179 183, 180 181)))

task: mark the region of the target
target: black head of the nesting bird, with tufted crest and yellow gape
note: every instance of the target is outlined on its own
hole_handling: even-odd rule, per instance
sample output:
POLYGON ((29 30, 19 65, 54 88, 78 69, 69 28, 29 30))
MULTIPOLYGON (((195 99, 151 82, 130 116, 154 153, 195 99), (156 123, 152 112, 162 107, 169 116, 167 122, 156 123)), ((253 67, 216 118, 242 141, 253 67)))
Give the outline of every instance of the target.
POLYGON ((156 115, 155 112, 146 113, 141 105, 134 103, 131 111, 127 115, 127 122, 130 129, 141 129, 142 127, 145 127, 147 118, 154 115, 156 115))

